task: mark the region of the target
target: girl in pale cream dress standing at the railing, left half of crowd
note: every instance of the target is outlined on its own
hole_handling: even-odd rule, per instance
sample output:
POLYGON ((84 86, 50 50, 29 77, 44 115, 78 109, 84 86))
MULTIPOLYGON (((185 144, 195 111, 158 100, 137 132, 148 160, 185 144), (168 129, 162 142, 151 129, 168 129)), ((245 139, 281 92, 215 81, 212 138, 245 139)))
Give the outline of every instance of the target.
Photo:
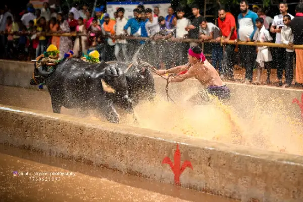
MULTIPOLYGON (((76 31, 77 31, 77 33, 86 34, 86 27, 83 23, 82 17, 78 18, 78 25, 77 25, 76 31)), ((73 49, 75 56, 78 56, 79 51, 80 51, 80 42, 79 42, 80 38, 81 38, 81 46, 82 46, 81 52, 82 52, 82 54, 86 54, 87 36, 80 36, 80 37, 77 37, 75 40, 74 49, 73 49)), ((81 56, 82 56, 82 54, 81 54, 81 56)))

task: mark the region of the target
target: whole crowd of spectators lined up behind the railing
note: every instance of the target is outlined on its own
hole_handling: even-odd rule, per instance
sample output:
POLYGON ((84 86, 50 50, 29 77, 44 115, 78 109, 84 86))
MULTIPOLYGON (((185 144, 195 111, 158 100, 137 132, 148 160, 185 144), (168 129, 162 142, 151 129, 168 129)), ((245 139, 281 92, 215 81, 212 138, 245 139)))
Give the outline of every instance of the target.
MULTIPOLYGON (((129 60, 143 46, 143 58, 153 61, 157 68, 171 68, 185 64, 188 47, 198 45, 175 43, 167 40, 125 40, 111 36, 131 35, 154 39, 191 38, 207 40, 236 40, 303 44, 303 4, 296 7, 295 17, 287 12, 286 3, 279 4, 280 15, 271 18, 264 9, 254 6, 249 10, 247 1, 240 2, 240 14, 235 18, 225 9, 218 10, 218 23, 207 22, 200 15, 198 6, 192 6, 192 20, 184 17, 185 10, 168 8, 167 14, 160 14, 159 8, 145 9, 139 5, 133 10, 134 17, 126 19, 124 8, 118 8, 114 19, 104 13, 104 7, 92 12, 87 6, 75 5, 68 15, 58 12, 57 6, 44 3, 41 10, 28 5, 22 16, 13 16, 6 7, 1 12, 0 31, 19 32, 30 35, 2 34, 0 54, 5 59, 32 60, 46 50, 49 44, 59 48, 60 57, 72 49, 75 56, 93 50, 100 53, 100 59, 129 60), (94 15, 92 16, 92 13, 94 15), (237 20, 236 20, 237 19, 237 20), (44 33, 82 33, 81 37, 45 36, 44 33), (274 40, 275 39, 275 40, 274 40), (144 55, 145 54, 145 55, 144 55)), ((245 68, 245 83, 260 84, 260 75, 267 69, 266 83, 270 83, 271 68, 277 68, 278 85, 288 87, 293 80, 295 58, 295 85, 303 84, 303 50, 293 48, 272 48, 268 46, 234 45, 212 43, 212 65, 222 78, 233 79, 234 65, 245 68), (235 56, 239 56, 239 62, 235 56), (235 62, 236 61, 236 62, 235 62), (253 70, 257 78, 253 81, 253 70), (282 82, 285 71, 285 83, 282 82)))

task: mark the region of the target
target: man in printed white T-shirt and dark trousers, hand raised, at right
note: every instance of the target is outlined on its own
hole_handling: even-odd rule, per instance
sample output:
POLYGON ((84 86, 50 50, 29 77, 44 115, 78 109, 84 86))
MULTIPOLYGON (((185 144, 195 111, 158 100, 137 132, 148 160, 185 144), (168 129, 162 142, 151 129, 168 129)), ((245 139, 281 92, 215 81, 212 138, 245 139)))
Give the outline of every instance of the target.
MULTIPOLYGON (((276 33, 276 43, 282 43, 281 41, 281 30, 282 27, 284 27, 283 23, 283 16, 289 15, 291 20, 293 19, 293 16, 287 13, 288 6, 286 3, 280 3, 279 4, 280 9, 280 15, 277 15, 274 17, 274 20, 272 22, 272 26, 270 28, 270 31, 272 33, 276 33)), ((283 77, 283 69, 285 69, 285 48, 274 48, 274 58, 275 58, 275 66, 277 67, 277 77, 279 79, 279 86, 282 86, 282 77, 283 77)), ((287 77, 285 72, 285 78, 287 77)), ((286 78, 287 79, 287 78, 286 78)))

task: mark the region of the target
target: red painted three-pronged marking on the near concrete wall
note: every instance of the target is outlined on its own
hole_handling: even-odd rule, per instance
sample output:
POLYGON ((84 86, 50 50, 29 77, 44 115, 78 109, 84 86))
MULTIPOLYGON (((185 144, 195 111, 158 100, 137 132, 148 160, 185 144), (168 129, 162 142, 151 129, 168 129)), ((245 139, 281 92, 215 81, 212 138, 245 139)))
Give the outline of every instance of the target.
POLYGON ((171 167, 174 173, 174 180, 176 185, 180 185, 180 175, 187 167, 193 170, 190 161, 185 160, 181 168, 180 168, 180 163, 181 163, 181 153, 179 149, 179 144, 177 144, 177 148, 174 155, 174 163, 171 161, 169 157, 165 157, 162 161, 162 164, 168 164, 171 167))

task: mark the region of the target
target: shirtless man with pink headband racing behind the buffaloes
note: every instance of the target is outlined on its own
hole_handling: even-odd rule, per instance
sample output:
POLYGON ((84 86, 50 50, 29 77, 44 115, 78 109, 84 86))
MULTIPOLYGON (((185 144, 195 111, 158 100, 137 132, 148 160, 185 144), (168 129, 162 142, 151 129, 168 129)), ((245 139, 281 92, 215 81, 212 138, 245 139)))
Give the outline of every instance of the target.
POLYGON ((169 77, 169 82, 182 82, 195 77, 206 91, 219 99, 230 98, 230 90, 222 82, 216 69, 206 60, 199 46, 188 49, 188 63, 169 70, 158 70, 160 75, 179 73, 177 77, 169 77))

